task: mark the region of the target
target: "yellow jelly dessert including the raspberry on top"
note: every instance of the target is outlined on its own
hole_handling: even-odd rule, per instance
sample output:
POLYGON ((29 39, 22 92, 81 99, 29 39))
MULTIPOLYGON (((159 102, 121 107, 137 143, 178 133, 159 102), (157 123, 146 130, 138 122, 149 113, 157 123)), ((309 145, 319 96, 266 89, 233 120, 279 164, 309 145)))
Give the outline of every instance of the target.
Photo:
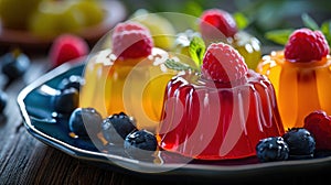
POLYGON ((84 72, 79 107, 93 107, 103 117, 126 112, 138 129, 154 131, 161 118, 163 92, 175 74, 164 66, 169 54, 152 47, 150 33, 138 23, 119 23, 113 50, 92 56, 84 72))

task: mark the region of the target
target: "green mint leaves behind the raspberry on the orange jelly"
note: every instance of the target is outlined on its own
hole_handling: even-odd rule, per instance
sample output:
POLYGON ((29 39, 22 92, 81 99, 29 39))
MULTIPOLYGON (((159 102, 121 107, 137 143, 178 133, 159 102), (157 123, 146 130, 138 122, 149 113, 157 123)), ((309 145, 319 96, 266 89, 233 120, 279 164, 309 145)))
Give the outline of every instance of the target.
MULTIPOLYGON (((321 26, 307 13, 301 15, 301 20, 306 28, 321 31, 331 47, 331 20, 324 21, 321 26)), ((277 44, 285 45, 293 31, 295 29, 274 30, 266 32, 265 37, 277 44)))

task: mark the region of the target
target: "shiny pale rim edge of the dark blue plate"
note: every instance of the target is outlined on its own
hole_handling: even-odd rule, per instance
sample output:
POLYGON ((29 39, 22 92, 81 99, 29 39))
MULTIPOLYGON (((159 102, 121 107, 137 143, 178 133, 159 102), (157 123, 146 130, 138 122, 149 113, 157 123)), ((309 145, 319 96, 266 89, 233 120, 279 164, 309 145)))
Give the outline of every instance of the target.
MULTIPOLYGON (((310 159, 310 160, 291 160, 291 161, 280 161, 280 162, 266 162, 266 163, 256 163, 256 164, 244 164, 244 165, 211 165, 211 164, 154 164, 154 163, 148 163, 148 162, 141 162, 138 160, 134 159, 128 159, 115 154, 108 154, 108 153, 102 153, 102 152, 94 152, 94 151, 88 151, 84 149, 76 148, 74 145, 71 145, 66 142, 60 141, 56 138, 50 137, 46 133, 38 130, 31 122, 31 119, 29 117, 29 113, 25 109, 25 104, 24 99, 26 96, 33 91, 35 88, 42 86, 44 83, 53 79, 54 77, 57 77, 70 69, 74 67, 79 67, 84 65, 82 63, 82 58, 79 58, 81 62, 78 61, 73 61, 65 63, 46 74, 42 75, 38 79, 35 79, 33 83, 24 87, 18 95, 17 102, 20 108, 21 116, 23 117, 23 122, 29 131, 34 138, 38 140, 42 141, 46 145, 53 146, 73 157, 81 159, 81 160, 87 160, 92 162, 100 162, 100 163, 107 163, 109 165, 115 165, 117 167, 120 167, 122 170, 129 170, 125 168, 122 166, 117 165, 114 163, 111 160, 122 162, 122 163, 128 163, 128 164, 134 164, 134 165, 139 165, 140 167, 148 167, 148 168, 154 168, 158 170, 161 167, 161 170, 171 170, 175 171, 177 173, 173 174, 171 171, 164 171, 164 172, 156 172, 153 174, 157 175, 193 175, 195 177, 212 177, 212 178, 224 178, 224 177, 229 177, 231 174, 248 174, 252 171, 255 172, 264 172, 265 170, 270 170, 270 168, 278 168, 278 167, 288 167, 292 170, 297 170, 302 167, 303 165, 307 166, 314 166, 319 167, 322 164, 331 164, 331 156, 325 156, 325 157, 319 157, 319 159, 310 159), (97 157, 96 157, 97 156, 97 157), (110 159, 110 160, 105 160, 105 159, 110 159), (228 176, 229 175, 229 176, 228 176)), ((130 171, 130 170, 129 170, 130 171)), ((132 171, 130 171, 132 172, 132 171)), ((145 174, 146 172, 134 172, 134 173, 142 173, 145 174)), ((150 174, 150 173, 149 173, 150 174)), ((151 173, 152 174, 152 173, 151 173)))

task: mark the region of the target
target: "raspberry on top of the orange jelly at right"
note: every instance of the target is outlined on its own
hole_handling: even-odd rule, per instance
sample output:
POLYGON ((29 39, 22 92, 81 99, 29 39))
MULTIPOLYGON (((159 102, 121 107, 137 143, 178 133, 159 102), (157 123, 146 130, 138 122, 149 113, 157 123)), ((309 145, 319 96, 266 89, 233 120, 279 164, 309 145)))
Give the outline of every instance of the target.
POLYGON ((299 29, 285 46, 285 58, 291 62, 320 61, 329 52, 329 44, 320 31, 299 29))

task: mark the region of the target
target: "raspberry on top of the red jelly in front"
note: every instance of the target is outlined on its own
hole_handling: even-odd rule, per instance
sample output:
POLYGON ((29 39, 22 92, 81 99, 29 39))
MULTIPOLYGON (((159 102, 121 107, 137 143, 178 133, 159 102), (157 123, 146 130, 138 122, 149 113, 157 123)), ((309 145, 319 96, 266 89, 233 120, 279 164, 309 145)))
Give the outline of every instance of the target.
POLYGON ((231 45, 211 44, 203 57, 202 74, 215 81, 235 81, 246 76, 248 69, 243 56, 231 45))

